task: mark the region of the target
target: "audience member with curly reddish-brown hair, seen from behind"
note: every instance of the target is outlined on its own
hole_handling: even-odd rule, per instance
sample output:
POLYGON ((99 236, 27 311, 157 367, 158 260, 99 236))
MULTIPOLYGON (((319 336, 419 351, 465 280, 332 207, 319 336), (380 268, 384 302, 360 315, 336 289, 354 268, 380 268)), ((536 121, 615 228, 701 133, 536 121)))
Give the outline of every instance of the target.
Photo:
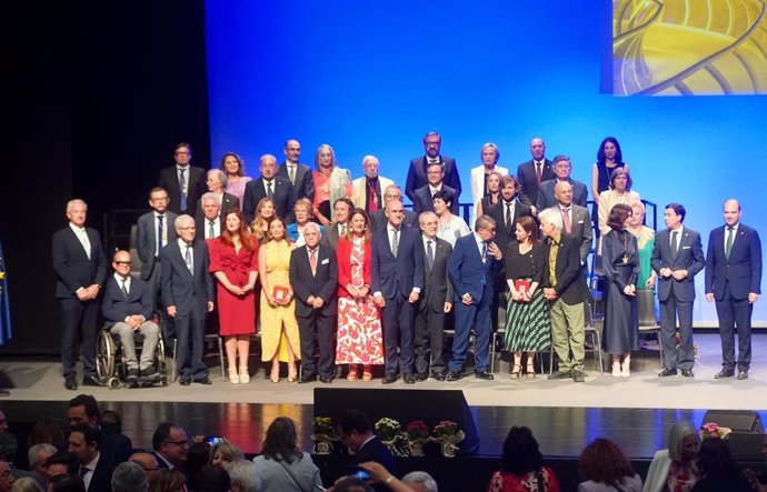
POLYGON ((610 440, 596 439, 587 445, 580 453, 578 470, 586 479, 578 485, 578 492, 641 492, 641 479, 610 440))

